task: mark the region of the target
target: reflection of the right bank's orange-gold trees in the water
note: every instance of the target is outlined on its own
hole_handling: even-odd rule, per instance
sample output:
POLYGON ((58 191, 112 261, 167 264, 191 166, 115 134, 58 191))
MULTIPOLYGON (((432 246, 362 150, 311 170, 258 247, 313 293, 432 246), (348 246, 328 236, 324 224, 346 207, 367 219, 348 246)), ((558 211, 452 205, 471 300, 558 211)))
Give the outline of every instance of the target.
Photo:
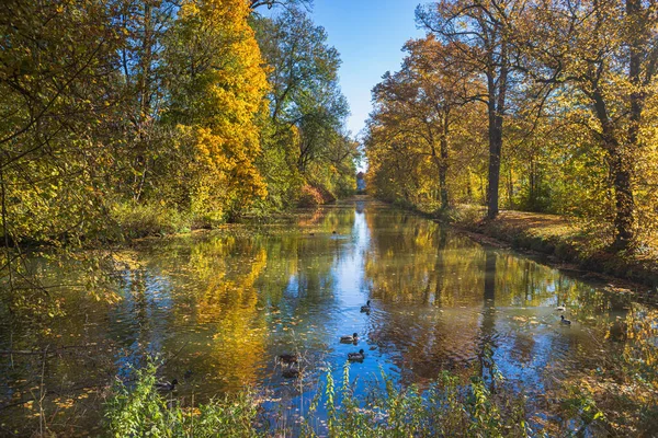
POLYGON ((599 360, 591 343, 585 345, 582 337, 558 332, 554 310, 537 316, 541 321, 524 316, 522 310, 553 309, 561 302, 570 306, 581 295, 592 293, 593 287, 532 260, 485 250, 404 212, 366 211, 365 217, 372 233, 365 273, 377 300, 370 336, 382 353, 390 355, 402 381, 432 379, 441 369, 468 364, 490 376, 500 343, 497 324, 504 325, 504 342, 511 343, 504 357, 511 369, 556 359, 568 359, 568 368, 599 360), (497 321, 499 307, 521 313, 497 321), (537 326, 548 331, 547 343, 537 344, 537 326))

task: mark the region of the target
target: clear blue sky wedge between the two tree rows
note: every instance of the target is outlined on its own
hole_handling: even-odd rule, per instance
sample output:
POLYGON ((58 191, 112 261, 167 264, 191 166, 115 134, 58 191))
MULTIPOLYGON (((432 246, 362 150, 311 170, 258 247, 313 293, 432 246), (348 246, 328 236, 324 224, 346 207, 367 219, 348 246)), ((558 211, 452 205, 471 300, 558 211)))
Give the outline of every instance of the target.
POLYGON ((402 60, 402 45, 424 32, 413 13, 422 0, 315 0, 313 20, 329 34, 342 59, 340 83, 350 102, 348 128, 355 136, 371 112, 371 90, 402 60))

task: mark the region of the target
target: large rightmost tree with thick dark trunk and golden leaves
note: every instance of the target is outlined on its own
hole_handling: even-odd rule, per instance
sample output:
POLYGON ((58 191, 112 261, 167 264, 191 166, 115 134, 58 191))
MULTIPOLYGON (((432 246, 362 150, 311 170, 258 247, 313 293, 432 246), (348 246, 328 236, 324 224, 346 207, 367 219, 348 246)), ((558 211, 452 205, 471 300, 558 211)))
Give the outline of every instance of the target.
POLYGON ((647 141, 643 135, 655 89, 658 10, 653 1, 541 2, 519 39, 530 51, 527 69, 540 81, 572 91, 574 108, 606 154, 614 191, 614 244, 636 235, 635 169, 647 141), (536 62, 536 64, 535 64, 536 62))

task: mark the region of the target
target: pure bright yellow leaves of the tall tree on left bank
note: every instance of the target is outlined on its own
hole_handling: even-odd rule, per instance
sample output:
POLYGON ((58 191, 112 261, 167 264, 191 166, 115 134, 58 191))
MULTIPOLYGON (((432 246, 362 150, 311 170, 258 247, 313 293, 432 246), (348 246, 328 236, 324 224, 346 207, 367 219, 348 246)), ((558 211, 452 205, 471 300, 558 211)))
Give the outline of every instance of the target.
POLYGON ((195 48, 214 51, 193 82, 201 88, 190 108, 195 123, 178 125, 191 150, 197 214, 242 208, 266 196, 256 159, 261 152, 257 116, 266 111, 269 85, 249 13, 245 0, 190 1, 180 11, 198 36, 195 48))

